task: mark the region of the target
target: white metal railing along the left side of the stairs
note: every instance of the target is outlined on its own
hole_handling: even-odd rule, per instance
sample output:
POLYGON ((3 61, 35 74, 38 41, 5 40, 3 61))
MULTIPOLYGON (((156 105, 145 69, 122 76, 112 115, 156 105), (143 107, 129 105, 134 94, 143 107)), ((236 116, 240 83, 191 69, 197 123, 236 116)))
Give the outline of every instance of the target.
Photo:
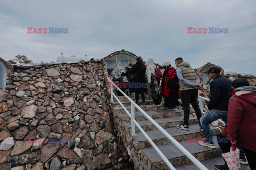
POLYGON ((131 125, 132 125, 132 135, 135 135, 135 125, 139 128, 141 133, 147 138, 151 146, 157 151, 159 156, 164 160, 165 164, 172 170, 174 170, 174 166, 169 162, 169 160, 164 156, 163 152, 159 150, 159 148, 155 145, 155 143, 149 138, 147 133, 141 128, 141 126, 138 124, 138 122, 134 118, 134 109, 135 107, 140 111, 147 119, 153 123, 157 129, 159 129, 166 138, 168 138, 183 154, 185 154, 191 162, 193 162, 199 169, 207 169, 199 160, 197 160, 192 154, 190 154, 189 151, 187 151, 180 143, 175 140, 169 133, 167 133, 159 124, 157 124, 153 118, 151 118, 145 111, 143 111, 135 102, 128 97, 121 89, 119 89, 113 81, 111 81, 109 78, 107 78, 109 82, 111 83, 110 85, 110 94, 111 94, 111 102, 114 102, 114 97, 118 101, 118 103, 122 106, 124 111, 131 117, 131 125), (121 101, 116 97, 116 95, 113 92, 113 85, 117 90, 119 90, 130 102, 131 102, 131 114, 127 111, 127 109, 124 107, 124 105, 121 103, 121 101))

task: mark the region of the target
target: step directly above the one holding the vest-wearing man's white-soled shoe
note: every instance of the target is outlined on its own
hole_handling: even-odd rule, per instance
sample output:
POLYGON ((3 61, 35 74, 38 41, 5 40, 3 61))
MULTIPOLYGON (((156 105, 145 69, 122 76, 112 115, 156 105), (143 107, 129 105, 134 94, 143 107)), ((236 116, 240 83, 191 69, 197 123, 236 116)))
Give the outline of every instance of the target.
MULTIPOLYGON (((173 128, 176 125, 182 124, 183 118, 184 118, 184 116, 159 118, 159 119, 156 119, 155 121, 162 128, 166 129, 166 128, 173 128)), ((150 121, 140 121, 138 123, 144 131, 157 130, 156 126, 150 121)), ((195 118, 195 117, 190 117, 189 118, 189 125, 197 124, 197 123, 198 123, 197 118, 195 118)), ((124 123, 124 125, 127 126, 128 128, 130 128, 130 132, 131 132, 131 130, 132 130, 131 129, 131 122, 124 123)), ((139 131, 140 131, 139 128, 137 126, 135 126, 135 132, 139 132, 139 131)))

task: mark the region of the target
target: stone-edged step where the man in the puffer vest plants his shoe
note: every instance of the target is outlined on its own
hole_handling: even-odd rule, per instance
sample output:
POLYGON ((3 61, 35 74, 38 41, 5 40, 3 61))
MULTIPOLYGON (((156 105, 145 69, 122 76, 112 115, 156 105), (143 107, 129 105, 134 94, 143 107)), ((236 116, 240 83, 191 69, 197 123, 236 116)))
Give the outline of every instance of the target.
MULTIPOLYGON (((210 126, 212 135, 217 135, 220 133, 220 130, 210 126)), ((169 133, 175 140, 178 142, 187 141, 189 138, 199 138, 204 137, 204 132, 199 128, 199 124, 189 125, 189 131, 181 130, 177 128, 167 128, 164 129, 167 133, 169 133)), ((160 130, 147 131, 147 135, 156 145, 166 145, 167 143, 171 143, 169 139, 165 137, 165 135, 160 130)), ((137 132, 133 137, 137 142, 139 148, 151 147, 151 144, 148 142, 146 137, 141 133, 137 132)))

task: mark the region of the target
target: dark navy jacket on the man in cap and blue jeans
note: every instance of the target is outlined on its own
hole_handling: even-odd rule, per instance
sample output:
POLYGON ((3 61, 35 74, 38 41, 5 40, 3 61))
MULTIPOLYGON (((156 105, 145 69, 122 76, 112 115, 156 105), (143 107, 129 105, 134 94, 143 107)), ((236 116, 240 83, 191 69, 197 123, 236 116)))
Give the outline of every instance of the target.
POLYGON ((210 86, 210 101, 207 104, 209 110, 228 111, 229 92, 233 91, 232 81, 218 75, 210 86))

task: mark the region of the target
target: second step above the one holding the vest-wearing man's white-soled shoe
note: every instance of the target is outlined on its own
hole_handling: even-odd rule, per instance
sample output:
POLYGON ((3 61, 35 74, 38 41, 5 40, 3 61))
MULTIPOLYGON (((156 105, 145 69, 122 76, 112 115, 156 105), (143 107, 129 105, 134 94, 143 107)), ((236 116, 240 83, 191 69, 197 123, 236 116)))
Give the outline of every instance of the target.
MULTIPOLYGON (((174 109, 173 111, 165 109, 160 111, 146 111, 146 113, 154 120, 157 120, 159 118, 178 117, 178 116, 184 115, 183 111, 177 108, 174 109)), ((131 118, 126 113, 119 113, 118 115, 122 117, 122 123, 131 122, 131 118)), ((141 112, 135 112, 134 116, 135 116, 135 120, 138 122, 148 120, 146 116, 144 116, 141 112)))

